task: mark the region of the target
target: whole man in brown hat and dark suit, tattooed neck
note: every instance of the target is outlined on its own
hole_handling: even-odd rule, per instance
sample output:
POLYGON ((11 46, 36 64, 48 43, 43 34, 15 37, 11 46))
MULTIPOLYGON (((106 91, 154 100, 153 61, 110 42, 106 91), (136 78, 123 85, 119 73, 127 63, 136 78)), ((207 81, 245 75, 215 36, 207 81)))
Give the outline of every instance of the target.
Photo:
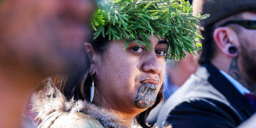
POLYGON ((167 100, 157 124, 233 128, 255 113, 256 1, 193 0, 202 20, 200 67, 167 100))

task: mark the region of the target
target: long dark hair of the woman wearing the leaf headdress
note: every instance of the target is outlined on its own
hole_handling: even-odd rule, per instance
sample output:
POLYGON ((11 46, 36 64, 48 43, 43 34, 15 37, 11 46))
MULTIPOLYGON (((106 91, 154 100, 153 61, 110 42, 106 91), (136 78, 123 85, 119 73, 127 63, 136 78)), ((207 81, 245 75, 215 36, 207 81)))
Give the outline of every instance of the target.
MULTIPOLYGON (((110 47, 110 41, 108 40, 108 37, 103 37, 102 34, 100 34, 96 40, 89 41, 89 43, 91 43, 95 52, 101 56, 103 56, 110 47)), ((81 50, 84 51, 84 48, 81 50)), ((74 98, 76 100, 80 99, 90 101, 92 76, 89 73, 89 69, 91 62, 89 57, 85 54, 85 51, 84 57, 86 65, 84 65, 84 67, 82 67, 80 70, 77 70, 75 73, 70 75, 58 75, 51 78, 53 85, 57 86, 57 88, 67 97, 68 100, 74 98)), ((136 116, 136 121, 142 127, 150 128, 146 123, 146 119, 149 115, 149 112, 162 100, 162 95, 163 87, 161 86, 154 105, 136 116)))

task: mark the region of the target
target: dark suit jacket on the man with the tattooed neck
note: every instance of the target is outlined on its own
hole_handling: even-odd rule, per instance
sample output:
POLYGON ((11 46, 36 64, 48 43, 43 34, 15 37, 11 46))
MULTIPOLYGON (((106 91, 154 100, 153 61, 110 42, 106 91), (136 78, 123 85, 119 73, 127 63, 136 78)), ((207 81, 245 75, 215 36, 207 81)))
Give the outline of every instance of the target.
POLYGON ((157 125, 173 128, 234 128, 255 112, 250 102, 211 64, 197 72, 167 100, 157 125))

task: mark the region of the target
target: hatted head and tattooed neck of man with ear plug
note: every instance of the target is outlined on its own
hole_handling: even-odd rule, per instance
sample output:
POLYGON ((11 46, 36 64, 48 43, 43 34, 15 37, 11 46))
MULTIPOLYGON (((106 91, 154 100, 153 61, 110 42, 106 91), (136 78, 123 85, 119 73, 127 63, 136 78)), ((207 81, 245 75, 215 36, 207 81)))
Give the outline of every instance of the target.
MULTIPOLYGON (((226 70, 236 80, 236 67, 249 84, 256 84, 256 1, 255 0, 194 0, 194 13, 210 14, 200 21, 201 40, 199 63, 212 63, 226 70)), ((240 82, 240 81, 239 81, 240 82)))

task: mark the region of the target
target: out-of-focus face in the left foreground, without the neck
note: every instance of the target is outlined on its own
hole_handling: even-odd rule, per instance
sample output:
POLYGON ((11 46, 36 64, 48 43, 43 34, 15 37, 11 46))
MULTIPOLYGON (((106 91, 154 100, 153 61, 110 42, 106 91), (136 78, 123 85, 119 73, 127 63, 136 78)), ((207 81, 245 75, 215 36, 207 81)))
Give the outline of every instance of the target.
POLYGON ((95 6, 92 0, 0 0, 0 66, 42 76, 82 66, 79 49, 95 6))

